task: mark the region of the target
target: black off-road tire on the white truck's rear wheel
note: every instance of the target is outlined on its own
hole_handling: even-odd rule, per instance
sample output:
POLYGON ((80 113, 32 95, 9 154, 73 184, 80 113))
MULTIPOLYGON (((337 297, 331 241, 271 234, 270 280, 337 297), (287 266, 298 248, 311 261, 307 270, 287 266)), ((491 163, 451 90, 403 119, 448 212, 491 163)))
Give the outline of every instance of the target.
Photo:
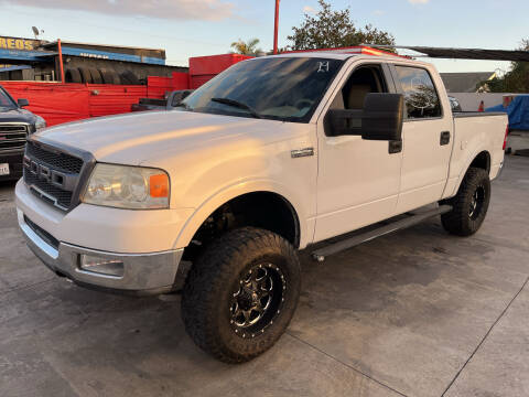
MULTIPOLYGON (((482 193, 479 193, 482 194, 482 193)), ((469 168, 457 194, 442 204, 452 205, 453 210, 441 215, 441 223, 446 232, 456 236, 471 236, 476 233, 487 215, 490 202, 490 179, 487 171, 469 168), (483 192, 483 198, 474 208, 473 197, 476 192, 483 192)))

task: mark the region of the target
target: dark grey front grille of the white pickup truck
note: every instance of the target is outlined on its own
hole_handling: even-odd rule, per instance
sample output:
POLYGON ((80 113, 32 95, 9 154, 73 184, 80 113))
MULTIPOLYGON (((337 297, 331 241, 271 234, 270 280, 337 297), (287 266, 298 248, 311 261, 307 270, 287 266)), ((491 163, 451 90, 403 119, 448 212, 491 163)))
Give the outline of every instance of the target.
POLYGON ((43 201, 68 211, 79 183, 84 161, 60 149, 28 141, 24 154, 24 182, 43 201))

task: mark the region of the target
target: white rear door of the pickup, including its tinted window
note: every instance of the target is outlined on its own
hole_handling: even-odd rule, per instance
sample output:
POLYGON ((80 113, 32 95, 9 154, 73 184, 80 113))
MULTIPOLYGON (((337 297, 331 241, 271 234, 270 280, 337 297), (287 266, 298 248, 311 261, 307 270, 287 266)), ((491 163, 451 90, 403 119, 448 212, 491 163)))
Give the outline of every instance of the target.
POLYGON ((403 159, 397 213, 436 202, 449 175, 453 120, 439 75, 427 66, 391 66, 397 90, 404 95, 403 159))

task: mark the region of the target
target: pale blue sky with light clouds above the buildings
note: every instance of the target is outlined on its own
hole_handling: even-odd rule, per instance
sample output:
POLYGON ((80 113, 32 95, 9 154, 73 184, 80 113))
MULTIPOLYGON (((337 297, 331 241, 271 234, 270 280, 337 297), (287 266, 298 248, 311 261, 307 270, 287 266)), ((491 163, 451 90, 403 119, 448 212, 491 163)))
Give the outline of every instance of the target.
MULTIPOLYGON (((331 0, 398 45, 514 50, 529 39, 527 0, 331 0)), ((317 0, 281 0, 279 46, 317 0)), ((168 64, 222 54, 238 39, 273 45, 274 0, 0 0, 0 35, 164 49, 168 64)), ((428 61, 428 60, 427 60, 428 61)), ((430 60, 440 72, 508 71, 508 62, 430 60)))

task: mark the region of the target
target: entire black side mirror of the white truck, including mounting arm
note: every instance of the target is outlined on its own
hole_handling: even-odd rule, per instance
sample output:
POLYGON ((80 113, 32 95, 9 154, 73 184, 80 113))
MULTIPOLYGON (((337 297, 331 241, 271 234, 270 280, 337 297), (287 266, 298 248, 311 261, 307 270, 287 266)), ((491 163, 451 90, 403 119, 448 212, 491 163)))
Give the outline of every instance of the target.
POLYGON ((361 136, 367 140, 400 141, 403 115, 401 94, 368 94, 363 110, 328 110, 325 131, 330 137, 361 136))

